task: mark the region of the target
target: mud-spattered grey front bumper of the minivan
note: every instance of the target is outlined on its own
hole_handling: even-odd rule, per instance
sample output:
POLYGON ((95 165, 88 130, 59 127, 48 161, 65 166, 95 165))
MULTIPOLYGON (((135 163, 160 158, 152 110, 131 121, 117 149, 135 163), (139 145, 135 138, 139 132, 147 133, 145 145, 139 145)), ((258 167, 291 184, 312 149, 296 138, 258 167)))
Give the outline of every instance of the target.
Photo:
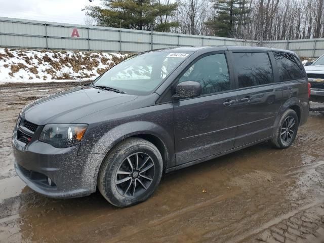
POLYGON ((34 191, 55 198, 86 196, 96 191, 104 154, 77 155, 79 146, 55 148, 38 140, 22 146, 15 132, 12 143, 16 172, 34 191))

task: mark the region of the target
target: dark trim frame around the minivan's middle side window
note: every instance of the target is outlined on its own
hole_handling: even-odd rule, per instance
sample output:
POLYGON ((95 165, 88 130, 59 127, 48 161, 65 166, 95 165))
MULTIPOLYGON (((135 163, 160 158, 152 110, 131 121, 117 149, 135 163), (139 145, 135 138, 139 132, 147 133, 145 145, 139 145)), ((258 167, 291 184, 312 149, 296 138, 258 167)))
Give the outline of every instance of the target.
POLYGON ((234 51, 229 51, 229 56, 230 56, 230 61, 232 63, 233 66, 234 65, 234 56, 233 53, 265 53, 268 55, 269 61, 270 61, 270 65, 271 65, 271 70, 272 70, 272 82, 268 83, 268 84, 263 84, 263 85, 255 85, 255 86, 249 86, 249 87, 243 87, 243 88, 239 88, 238 85, 238 72, 237 72, 237 68, 233 67, 233 73, 234 73, 234 80, 235 80, 235 90, 236 91, 240 91, 240 90, 248 90, 248 89, 253 89, 253 88, 257 88, 257 87, 263 87, 263 86, 268 86, 268 85, 273 85, 275 84, 275 78, 276 78, 276 69, 273 65, 272 59, 271 59, 271 51, 268 50, 234 50, 234 51))

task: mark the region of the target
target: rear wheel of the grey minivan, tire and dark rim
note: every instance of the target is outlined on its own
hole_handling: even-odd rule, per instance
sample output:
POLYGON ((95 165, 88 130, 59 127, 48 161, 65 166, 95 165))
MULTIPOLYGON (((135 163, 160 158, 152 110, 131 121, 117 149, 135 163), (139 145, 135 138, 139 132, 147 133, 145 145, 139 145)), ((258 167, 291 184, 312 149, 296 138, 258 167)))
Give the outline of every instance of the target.
POLYGON ((276 148, 288 148, 296 138, 298 126, 299 120, 296 112, 292 109, 287 109, 282 114, 270 143, 276 148))

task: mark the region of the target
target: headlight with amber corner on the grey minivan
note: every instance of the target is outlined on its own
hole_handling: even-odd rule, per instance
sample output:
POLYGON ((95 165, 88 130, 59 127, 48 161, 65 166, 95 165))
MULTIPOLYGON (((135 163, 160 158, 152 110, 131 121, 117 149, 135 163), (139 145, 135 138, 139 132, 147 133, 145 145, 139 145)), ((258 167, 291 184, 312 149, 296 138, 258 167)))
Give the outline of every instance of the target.
POLYGON ((86 130, 86 124, 48 124, 43 128, 39 141, 56 148, 67 148, 78 144, 86 130))

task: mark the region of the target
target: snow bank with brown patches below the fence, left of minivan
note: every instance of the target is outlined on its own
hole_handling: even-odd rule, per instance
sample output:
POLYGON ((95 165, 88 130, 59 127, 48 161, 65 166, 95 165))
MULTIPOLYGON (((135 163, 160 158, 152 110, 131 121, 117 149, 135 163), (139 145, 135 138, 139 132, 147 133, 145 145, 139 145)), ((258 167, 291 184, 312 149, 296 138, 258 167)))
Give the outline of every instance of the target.
POLYGON ((130 54, 0 48, 1 83, 93 80, 130 54))

